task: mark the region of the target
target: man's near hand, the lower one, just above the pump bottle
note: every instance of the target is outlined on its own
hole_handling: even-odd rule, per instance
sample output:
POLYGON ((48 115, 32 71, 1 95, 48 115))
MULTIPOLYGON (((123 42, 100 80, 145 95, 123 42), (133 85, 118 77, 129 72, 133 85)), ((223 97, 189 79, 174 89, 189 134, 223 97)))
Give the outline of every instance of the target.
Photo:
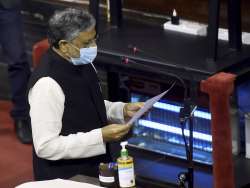
POLYGON ((104 142, 121 140, 128 134, 132 125, 111 124, 102 128, 102 137, 104 142))

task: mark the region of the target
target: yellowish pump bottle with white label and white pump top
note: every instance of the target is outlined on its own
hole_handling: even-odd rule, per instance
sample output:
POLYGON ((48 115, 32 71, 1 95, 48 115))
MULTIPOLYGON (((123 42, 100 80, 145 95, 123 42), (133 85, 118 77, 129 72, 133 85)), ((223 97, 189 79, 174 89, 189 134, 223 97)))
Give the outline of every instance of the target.
POLYGON ((135 173, 133 158, 128 155, 128 150, 125 146, 128 142, 121 142, 121 156, 117 159, 118 178, 121 188, 135 187, 135 173))

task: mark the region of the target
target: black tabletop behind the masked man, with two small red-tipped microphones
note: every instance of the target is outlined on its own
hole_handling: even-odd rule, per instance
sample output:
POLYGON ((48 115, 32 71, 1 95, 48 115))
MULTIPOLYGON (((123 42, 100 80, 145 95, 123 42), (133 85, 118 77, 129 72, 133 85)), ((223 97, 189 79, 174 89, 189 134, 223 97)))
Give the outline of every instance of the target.
POLYGON ((241 52, 230 51, 227 42, 219 41, 218 60, 207 60, 206 37, 166 31, 161 25, 147 25, 126 21, 122 28, 100 29, 98 41, 99 60, 116 66, 143 71, 172 72, 188 80, 200 81, 226 70, 241 75, 249 70, 250 46, 241 52), (136 54, 129 46, 141 49, 136 54), (131 61, 122 64, 121 59, 131 61), (146 65, 148 67, 144 67, 146 65), (236 71, 235 67, 244 66, 236 71), (151 69, 149 68, 151 67, 151 69))

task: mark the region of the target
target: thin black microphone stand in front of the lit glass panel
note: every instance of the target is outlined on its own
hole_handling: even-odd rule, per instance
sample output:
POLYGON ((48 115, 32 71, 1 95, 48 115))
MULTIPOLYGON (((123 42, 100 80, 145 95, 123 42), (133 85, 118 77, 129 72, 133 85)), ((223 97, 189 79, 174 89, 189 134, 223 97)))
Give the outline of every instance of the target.
POLYGON ((182 126, 182 135, 186 148, 186 156, 188 161, 188 171, 181 172, 178 175, 178 185, 180 188, 194 187, 194 169, 193 169, 193 114, 197 106, 195 106, 189 99, 184 100, 184 107, 180 109, 180 124, 182 126), (189 124, 189 145, 187 145, 186 137, 184 134, 185 124, 189 124))

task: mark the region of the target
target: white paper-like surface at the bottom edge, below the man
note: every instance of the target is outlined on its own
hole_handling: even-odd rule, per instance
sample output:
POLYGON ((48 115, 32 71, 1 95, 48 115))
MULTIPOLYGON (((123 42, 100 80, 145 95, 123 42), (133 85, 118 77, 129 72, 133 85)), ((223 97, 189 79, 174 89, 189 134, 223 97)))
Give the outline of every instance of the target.
POLYGON ((100 186, 72 180, 54 179, 23 183, 15 188, 100 188, 100 186))

